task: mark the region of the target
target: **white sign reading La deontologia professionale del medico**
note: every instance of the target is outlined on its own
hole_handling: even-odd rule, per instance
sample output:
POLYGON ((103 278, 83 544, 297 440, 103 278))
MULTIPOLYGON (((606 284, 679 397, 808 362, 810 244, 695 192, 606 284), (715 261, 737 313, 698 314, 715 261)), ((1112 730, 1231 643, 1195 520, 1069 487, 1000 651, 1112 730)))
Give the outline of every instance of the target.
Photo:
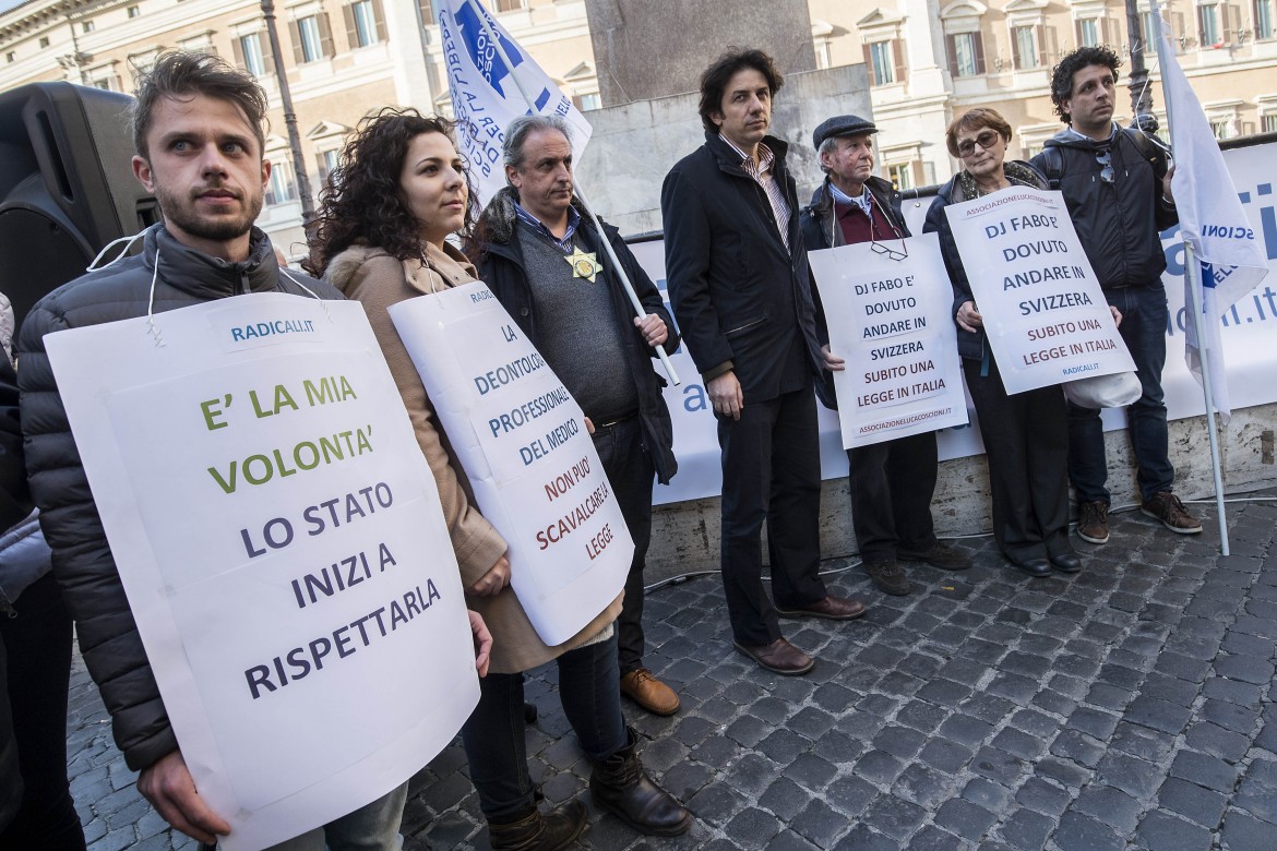
POLYGON ((481 282, 392 305, 511 586, 550 647, 624 587, 633 538, 580 406, 481 282))

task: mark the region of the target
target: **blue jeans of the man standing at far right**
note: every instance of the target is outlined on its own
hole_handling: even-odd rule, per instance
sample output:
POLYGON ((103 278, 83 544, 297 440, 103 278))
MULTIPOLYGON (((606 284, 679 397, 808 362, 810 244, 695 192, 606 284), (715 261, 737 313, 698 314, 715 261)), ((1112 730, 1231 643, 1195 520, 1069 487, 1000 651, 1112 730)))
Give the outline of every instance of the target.
MULTIPOLYGON (((1162 397, 1166 323, 1170 320, 1166 290, 1156 282, 1148 287, 1106 290, 1105 296, 1121 311, 1117 330, 1130 350, 1143 388, 1140 397, 1126 408, 1126 429, 1139 466, 1139 492, 1148 501, 1154 494, 1170 491, 1175 482, 1162 397)), ((1105 487, 1108 462, 1099 411, 1069 406, 1069 478, 1079 503, 1108 503, 1108 489, 1105 487)))

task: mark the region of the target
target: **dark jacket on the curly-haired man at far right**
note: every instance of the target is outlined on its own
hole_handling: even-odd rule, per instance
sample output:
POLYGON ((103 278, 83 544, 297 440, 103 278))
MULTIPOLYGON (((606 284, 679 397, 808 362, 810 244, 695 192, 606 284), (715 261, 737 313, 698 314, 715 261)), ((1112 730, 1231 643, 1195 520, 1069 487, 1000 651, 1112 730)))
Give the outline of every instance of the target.
POLYGON ((1138 130, 1117 129, 1111 140, 1079 139, 1062 130, 1047 139, 1032 165, 1059 188, 1091 268, 1105 290, 1160 287, 1166 253, 1160 233, 1180 221, 1162 199, 1166 154, 1137 140, 1138 130), (1099 179, 1096 156, 1108 152, 1115 180, 1099 179))

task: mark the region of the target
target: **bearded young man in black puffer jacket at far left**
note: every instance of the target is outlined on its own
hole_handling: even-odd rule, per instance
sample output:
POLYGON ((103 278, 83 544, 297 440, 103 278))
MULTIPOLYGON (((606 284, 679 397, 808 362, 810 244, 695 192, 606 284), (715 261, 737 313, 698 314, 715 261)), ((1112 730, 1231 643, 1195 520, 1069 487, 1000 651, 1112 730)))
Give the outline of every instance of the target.
MULTIPOLYGON (((77 621, 80 651, 111 713, 115 741, 138 788, 172 827, 215 842, 230 825, 195 790, 138 634, 89 492, 45 334, 254 292, 341 299, 280 272, 262 211, 271 163, 262 158, 266 94, 216 56, 166 54, 138 83, 133 172, 160 200, 163 222, 142 253, 55 290, 23 324, 19 361, 27 472, 54 552, 54 573, 77 621), (152 292, 153 290, 153 292, 152 292), (308 292, 309 290, 309 292, 308 292), (153 307, 148 302, 153 296, 153 307)), ((300 276, 299 276, 300 277, 300 276)), ((472 625, 487 644, 481 621, 472 625)), ((393 851, 407 783, 277 847, 393 851)))

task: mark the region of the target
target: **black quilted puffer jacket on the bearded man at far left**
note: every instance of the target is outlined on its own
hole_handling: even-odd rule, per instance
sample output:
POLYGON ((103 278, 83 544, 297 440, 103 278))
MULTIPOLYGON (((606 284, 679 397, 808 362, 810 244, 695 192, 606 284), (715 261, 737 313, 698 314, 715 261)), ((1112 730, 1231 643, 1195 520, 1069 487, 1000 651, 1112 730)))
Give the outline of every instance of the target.
MULTIPOLYGON (((59 287, 22 325, 19 387, 32 495, 54 550, 54 573, 75 619, 84 663, 111 713, 115 743, 134 771, 176 750, 178 740, 115 569, 43 338, 66 328, 144 316, 157 258, 156 313, 249 292, 306 295, 280 273, 271 240, 257 228, 249 259, 225 263, 181 245, 156 226, 147 232, 140 255, 59 287)), ((341 299, 327 283, 296 277, 321 297, 341 299)))

